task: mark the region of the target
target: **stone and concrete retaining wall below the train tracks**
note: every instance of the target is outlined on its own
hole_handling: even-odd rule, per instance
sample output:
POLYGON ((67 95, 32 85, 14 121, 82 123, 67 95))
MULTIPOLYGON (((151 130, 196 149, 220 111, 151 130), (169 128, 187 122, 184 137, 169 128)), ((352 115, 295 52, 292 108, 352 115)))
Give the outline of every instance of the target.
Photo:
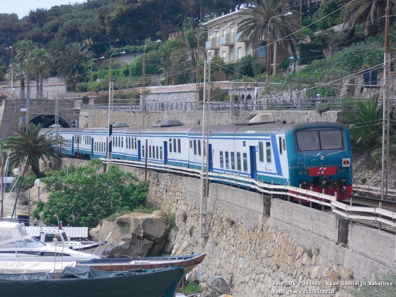
MULTIPOLYGON (((121 168, 144 178, 142 169, 121 168)), ((213 214, 208 238, 202 238, 200 180, 148 171, 148 181, 149 200, 176 215, 173 254, 207 253, 193 279, 203 283, 217 275, 228 281, 233 274, 233 296, 282 296, 282 290, 301 292, 289 296, 348 296, 355 286, 342 282, 373 281, 395 268, 394 235, 349 225, 346 248, 337 244, 333 214, 272 199, 271 216, 264 216, 261 195, 219 184, 210 185, 213 214), (289 281, 297 284, 287 286, 289 281), (335 291, 306 291, 317 289, 335 291)))

